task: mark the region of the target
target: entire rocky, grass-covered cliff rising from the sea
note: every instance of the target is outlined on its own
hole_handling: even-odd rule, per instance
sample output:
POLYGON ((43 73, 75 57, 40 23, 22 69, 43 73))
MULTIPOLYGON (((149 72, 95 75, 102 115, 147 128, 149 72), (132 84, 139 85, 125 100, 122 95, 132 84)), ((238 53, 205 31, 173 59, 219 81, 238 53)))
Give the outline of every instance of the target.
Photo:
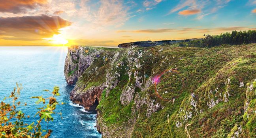
POLYGON ((256 44, 70 47, 64 74, 103 138, 256 136, 256 44))

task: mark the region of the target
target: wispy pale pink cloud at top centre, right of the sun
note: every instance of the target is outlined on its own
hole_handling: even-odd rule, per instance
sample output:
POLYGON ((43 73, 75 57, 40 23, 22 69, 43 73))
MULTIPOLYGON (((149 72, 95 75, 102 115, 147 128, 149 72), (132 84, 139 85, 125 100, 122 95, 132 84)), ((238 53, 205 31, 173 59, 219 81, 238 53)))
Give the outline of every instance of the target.
POLYGON ((88 5, 88 0, 82 0, 78 16, 89 21, 94 28, 106 25, 121 26, 130 16, 129 7, 122 0, 100 0, 96 5, 88 5))

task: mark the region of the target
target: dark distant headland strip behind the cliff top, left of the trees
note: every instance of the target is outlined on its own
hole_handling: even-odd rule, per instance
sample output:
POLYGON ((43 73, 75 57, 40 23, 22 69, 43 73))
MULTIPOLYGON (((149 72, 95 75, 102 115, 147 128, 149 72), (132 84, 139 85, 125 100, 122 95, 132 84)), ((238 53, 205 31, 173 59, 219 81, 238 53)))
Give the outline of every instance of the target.
POLYGON ((128 48, 128 47, 154 47, 157 45, 172 45, 179 42, 188 42, 193 41, 196 39, 186 39, 186 40, 162 40, 162 41, 137 41, 137 42, 130 42, 130 43, 122 43, 119 44, 118 47, 128 48))

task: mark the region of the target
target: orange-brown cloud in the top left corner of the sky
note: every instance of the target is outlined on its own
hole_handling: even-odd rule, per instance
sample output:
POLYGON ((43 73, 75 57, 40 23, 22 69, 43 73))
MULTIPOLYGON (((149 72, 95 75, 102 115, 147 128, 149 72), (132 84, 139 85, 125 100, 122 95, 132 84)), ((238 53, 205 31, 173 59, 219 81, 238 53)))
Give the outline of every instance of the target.
POLYGON ((47 0, 0 0, 0 12, 24 13, 27 9, 47 4, 47 0))

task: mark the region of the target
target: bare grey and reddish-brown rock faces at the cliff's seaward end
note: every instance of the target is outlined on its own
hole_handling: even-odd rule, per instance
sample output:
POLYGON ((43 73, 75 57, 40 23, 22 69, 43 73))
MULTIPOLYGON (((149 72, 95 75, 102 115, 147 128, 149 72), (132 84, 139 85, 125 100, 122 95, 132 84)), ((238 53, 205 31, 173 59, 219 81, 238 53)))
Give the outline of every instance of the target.
MULTIPOLYGON (((94 62, 103 50, 90 49, 88 47, 69 47, 68 55, 65 60, 64 75, 69 85, 76 84, 78 78, 94 62), (89 51, 90 50, 90 51, 89 51), (90 54, 88 54, 90 52, 90 54)), ((102 90, 105 85, 88 87, 82 82, 75 86, 70 93, 70 99, 73 103, 80 104, 86 110, 95 110, 98 105, 102 90)))

